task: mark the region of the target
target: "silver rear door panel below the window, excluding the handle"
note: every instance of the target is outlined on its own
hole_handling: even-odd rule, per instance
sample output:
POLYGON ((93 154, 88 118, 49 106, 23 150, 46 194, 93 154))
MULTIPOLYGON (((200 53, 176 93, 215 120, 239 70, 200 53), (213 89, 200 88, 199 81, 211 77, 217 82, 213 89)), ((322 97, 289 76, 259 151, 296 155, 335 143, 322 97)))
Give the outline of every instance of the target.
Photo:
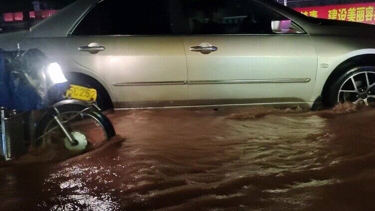
POLYGON ((69 37, 69 55, 105 78, 120 106, 182 106, 188 99, 186 55, 181 37, 69 37), (78 51, 97 43, 105 51, 78 51), (161 84, 161 82, 163 84, 161 84), (142 104, 141 102, 145 102, 142 104))

